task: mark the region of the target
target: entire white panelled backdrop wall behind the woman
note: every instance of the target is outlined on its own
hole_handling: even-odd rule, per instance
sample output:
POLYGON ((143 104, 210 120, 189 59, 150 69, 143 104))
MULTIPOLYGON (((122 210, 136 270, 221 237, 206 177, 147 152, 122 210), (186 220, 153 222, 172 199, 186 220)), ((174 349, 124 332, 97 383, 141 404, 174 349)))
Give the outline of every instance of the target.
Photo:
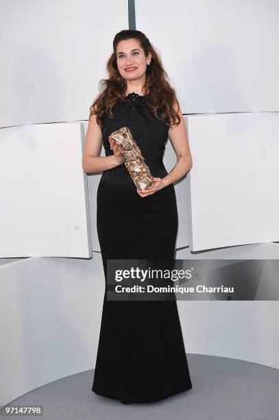
MULTIPOLYGON (((228 253, 235 259, 243 254, 278 258, 278 244, 234 246, 279 240, 278 115, 189 115, 279 110, 278 21, 277 0, 175 0, 171 14, 167 0, 136 1, 137 29, 162 54, 187 114, 194 159, 191 173, 175 185, 176 246, 191 244, 197 258, 228 253), (230 248, 217 253, 210 249, 215 246, 230 248)), ((94 367, 104 272, 101 255, 82 258, 92 248, 99 250, 100 176, 82 171, 78 121, 88 119, 98 82, 106 78, 114 35, 128 29, 128 1, 2 0, 0 23, 5 58, 0 68, 0 258, 70 257, 0 266, 3 405, 94 367), (11 127, 21 124, 26 126, 11 127)), ((175 161, 168 142, 168 171, 175 161)), ((193 255, 184 249, 176 257, 193 255)), ((179 306, 186 352, 279 367, 278 302, 179 306)))

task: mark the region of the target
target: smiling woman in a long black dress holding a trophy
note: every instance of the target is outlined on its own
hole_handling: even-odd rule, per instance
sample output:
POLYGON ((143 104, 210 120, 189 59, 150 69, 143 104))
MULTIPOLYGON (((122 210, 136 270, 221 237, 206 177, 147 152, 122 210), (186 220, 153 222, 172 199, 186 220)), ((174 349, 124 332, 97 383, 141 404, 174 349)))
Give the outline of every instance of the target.
POLYGON ((103 172, 97 233, 106 288, 92 390, 123 404, 160 401, 192 388, 176 300, 107 300, 107 259, 173 259, 178 211, 173 183, 192 165, 186 126, 162 62, 147 37, 123 30, 113 41, 109 78, 90 107, 82 165, 103 172), (129 127, 154 180, 134 185, 110 136, 129 127), (162 163, 167 139, 178 162, 162 163), (103 142, 106 156, 99 156, 103 142))

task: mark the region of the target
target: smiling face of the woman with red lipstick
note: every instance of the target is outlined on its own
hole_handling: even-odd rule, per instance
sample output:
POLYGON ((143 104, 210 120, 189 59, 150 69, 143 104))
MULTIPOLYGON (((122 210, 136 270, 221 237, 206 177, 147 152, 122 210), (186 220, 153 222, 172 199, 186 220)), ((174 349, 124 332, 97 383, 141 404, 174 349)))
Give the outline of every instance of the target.
POLYGON ((145 75, 147 62, 151 60, 151 53, 145 57, 145 53, 138 43, 132 38, 121 40, 117 44, 117 67, 121 76, 127 80, 136 80, 145 75), (134 69, 129 71, 129 67, 134 69))

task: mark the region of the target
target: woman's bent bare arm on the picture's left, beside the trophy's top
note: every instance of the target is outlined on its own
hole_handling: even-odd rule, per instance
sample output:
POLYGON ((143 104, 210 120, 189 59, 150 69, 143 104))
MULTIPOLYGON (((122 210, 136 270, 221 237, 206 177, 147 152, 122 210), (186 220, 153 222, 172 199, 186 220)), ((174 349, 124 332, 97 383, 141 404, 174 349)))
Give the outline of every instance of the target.
POLYGON ((82 154, 82 169, 86 174, 103 172, 123 163, 121 156, 99 156, 102 144, 101 128, 97 124, 96 115, 88 119, 88 129, 82 154))

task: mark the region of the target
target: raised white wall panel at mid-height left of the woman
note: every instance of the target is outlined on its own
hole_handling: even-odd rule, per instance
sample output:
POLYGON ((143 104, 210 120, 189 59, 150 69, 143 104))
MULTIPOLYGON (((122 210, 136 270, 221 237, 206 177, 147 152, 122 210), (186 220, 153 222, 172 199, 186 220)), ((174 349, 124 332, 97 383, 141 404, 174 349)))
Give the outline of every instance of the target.
POLYGON ((80 123, 0 130, 0 257, 90 257, 80 123))

